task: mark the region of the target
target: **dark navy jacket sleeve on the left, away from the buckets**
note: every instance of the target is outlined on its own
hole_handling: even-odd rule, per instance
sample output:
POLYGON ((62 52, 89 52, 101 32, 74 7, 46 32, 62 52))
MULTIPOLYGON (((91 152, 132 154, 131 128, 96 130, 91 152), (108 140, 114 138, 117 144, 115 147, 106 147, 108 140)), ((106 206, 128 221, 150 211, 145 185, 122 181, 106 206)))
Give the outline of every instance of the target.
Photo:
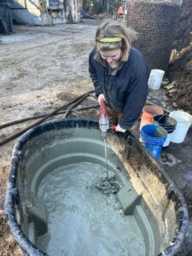
POLYGON ((96 76, 93 54, 94 54, 94 51, 92 51, 90 53, 90 57, 89 57, 89 72, 90 72, 90 78, 95 87, 95 94, 96 94, 96 96, 99 96, 102 93, 102 84, 98 81, 97 76, 96 76))

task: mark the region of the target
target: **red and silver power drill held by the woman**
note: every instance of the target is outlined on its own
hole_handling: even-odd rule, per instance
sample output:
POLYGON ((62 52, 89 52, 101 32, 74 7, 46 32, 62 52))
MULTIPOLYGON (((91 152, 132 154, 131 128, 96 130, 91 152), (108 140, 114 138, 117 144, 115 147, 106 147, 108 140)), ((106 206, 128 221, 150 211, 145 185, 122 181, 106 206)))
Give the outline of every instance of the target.
MULTIPOLYGON (((115 131, 116 130, 116 125, 110 126, 110 128, 115 131)), ((109 120, 108 120, 108 110, 106 108, 106 103, 102 99, 100 108, 99 108, 99 128, 102 131, 102 137, 107 136, 107 131, 109 129, 109 120)))

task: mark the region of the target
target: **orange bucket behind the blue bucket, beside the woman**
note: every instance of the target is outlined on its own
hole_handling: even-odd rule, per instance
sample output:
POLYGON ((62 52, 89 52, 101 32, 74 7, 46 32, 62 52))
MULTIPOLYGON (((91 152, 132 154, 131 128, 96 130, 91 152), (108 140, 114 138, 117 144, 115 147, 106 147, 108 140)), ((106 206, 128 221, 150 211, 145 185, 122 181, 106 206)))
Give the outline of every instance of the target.
POLYGON ((143 108, 142 119, 140 123, 140 131, 143 125, 150 125, 153 123, 154 115, 163 114, 164 111, 159 106, 145 106, 143 108))

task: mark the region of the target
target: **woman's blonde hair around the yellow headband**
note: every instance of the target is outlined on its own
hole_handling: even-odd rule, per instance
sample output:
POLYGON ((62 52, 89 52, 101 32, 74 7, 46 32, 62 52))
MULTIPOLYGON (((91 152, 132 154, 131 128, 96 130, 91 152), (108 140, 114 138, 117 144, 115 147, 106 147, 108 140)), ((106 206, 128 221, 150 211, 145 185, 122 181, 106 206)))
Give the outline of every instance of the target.
POLYGON ((106 21, 96 28, 96 50, 105 51, 122 49, 121 61, 127 61, 130 54, 131 43, 137 39, 137 32, 117 22, 106 21), (102 38, 122 38, 119 42, 100 42, 102 38))

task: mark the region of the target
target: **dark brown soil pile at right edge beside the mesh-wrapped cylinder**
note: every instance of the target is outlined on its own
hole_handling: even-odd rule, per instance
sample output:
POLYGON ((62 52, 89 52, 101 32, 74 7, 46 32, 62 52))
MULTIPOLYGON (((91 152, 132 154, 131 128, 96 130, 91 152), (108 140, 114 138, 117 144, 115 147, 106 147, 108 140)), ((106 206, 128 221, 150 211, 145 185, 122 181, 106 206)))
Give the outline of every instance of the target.
POLYGON ((172 82, 168 91, 172 106, 192 114, 192 2, 183 0, 167 76, 172 82))

